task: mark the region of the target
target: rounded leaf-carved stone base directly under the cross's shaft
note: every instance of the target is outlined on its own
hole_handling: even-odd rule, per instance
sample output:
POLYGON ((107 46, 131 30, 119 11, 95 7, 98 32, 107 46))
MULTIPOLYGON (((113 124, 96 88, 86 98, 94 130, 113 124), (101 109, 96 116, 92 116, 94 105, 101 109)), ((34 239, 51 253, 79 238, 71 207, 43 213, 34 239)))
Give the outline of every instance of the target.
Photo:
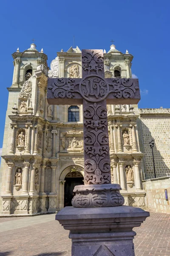
POLYGON ((118 184, 75 186, 71 203, 79 208, 120 206, 125 202, 120 189, 118 184))

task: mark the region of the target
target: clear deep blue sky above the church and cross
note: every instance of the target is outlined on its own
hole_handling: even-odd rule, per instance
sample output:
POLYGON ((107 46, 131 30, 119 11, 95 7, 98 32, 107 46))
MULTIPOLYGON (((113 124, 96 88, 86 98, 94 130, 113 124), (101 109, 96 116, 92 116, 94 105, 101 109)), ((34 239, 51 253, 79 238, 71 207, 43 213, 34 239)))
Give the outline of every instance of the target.
POLYGON ((48 66, 62 48, 116 49, 133 54, 132 72, 139 78, 139 108, 170 108, 169 0, 37 0, 2 1, 0 10, 1 122, 0 148, 13 76, 11 54, 28 49, 31 39, 48 55, 48 66))

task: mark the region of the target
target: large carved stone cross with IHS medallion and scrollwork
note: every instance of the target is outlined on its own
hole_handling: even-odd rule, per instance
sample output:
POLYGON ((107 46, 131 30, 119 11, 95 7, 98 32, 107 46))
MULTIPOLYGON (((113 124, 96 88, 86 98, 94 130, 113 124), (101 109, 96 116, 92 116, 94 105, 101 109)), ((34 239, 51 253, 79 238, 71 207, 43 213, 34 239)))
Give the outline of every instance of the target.
POLYGON ((48 78, 48 104, 83 104, 85 184, 111 183, 106 104, 137 104, 138 79, 105 79, 102 50, 82 50, 82 79, 48 78))

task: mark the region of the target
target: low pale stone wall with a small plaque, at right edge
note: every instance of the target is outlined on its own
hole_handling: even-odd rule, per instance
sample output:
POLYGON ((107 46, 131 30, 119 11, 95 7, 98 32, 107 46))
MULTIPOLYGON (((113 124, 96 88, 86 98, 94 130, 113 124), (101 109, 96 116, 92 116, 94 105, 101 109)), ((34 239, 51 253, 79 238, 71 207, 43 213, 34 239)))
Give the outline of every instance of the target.
POLYGON ((170 176, 143 180, 147 208, 153 212, 170 214, 170 176), (165 199, 167 189, 168 200, 165 199))

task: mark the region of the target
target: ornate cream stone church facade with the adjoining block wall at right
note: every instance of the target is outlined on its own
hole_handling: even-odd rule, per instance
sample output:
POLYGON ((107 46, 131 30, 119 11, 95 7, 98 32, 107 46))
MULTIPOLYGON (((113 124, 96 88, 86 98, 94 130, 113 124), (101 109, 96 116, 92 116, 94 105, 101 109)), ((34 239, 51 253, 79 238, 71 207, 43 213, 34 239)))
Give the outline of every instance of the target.
MULTIPOLYGON (((48 77, 81 78, 81 50, 47 55, 36 45, 14 52, 14 75, 0 168, 0 214, 34 215, 71 205, 75 185, 84 183, 82 105, 48 105, 48 77)), ((133 55, 114 45, 104 51, 105 77, 131 78, 133 55)), ((170 109, 108 105, 112 183, 125 204, 148 208, 145 180, 154 177, 149 141, 155 140, 156 175, 170 175, 170 109), (165 122, 166 120, 166 122, 165 122)), ((162 190, 162 196, 164 191, 162 190)), ((169 193, 169 190, 168 190, 169 193)), ((156 195, 155 195, 156 196, 156 195)))

